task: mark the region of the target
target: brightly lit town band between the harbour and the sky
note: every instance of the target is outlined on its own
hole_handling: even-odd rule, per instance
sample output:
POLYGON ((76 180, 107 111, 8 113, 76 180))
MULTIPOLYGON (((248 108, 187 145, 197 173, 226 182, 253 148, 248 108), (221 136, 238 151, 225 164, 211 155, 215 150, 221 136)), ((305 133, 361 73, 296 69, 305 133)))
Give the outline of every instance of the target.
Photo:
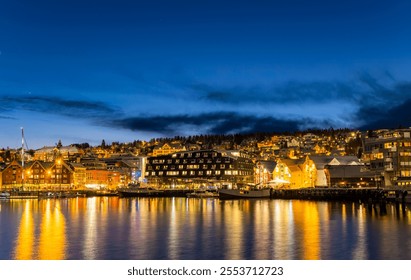
POLYGON ((410 129, 197 135, 0 150, 2 189, 408 186, 410 129))

